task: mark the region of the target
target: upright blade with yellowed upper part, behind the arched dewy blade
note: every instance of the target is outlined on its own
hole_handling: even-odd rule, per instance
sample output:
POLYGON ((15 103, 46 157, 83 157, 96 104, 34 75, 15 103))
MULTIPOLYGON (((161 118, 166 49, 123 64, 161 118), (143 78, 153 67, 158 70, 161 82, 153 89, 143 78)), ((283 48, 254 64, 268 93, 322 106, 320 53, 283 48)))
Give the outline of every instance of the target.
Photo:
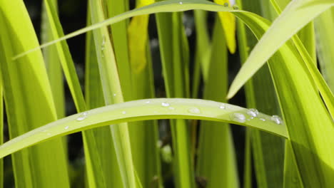
MULTIPOLYGON (((152 4, 151 0, 137 1, 137 7, 152 4)), ((128 48, 133 83, 132 100, 154 97, 151 53, 148 48, 148 15, 134 17, 128 26, 128 48)), ((131 122, 129 125, 133 162, 143 187, 161 186, 158 125, 156 121, 131 122), (156 180, 155 180, 156 179, 156 180), (154 182, 156 181, 156 182, 154 182)))

